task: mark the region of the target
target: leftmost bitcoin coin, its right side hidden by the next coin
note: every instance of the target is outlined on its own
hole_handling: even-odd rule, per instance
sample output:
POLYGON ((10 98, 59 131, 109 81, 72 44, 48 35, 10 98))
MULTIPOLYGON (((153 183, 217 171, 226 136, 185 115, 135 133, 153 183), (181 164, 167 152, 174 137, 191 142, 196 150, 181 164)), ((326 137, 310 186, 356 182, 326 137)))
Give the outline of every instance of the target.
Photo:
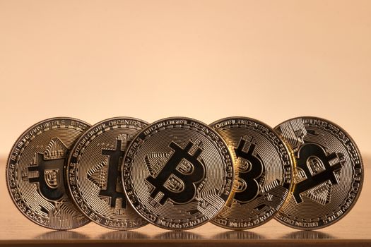
POLYGON ((69 151, 88 127, 78 119, 47 119, 28 128, 13 145, 6 166, 8 191, 18 210, 42 227, 67 230, 90 222, 64 184, 69 151))

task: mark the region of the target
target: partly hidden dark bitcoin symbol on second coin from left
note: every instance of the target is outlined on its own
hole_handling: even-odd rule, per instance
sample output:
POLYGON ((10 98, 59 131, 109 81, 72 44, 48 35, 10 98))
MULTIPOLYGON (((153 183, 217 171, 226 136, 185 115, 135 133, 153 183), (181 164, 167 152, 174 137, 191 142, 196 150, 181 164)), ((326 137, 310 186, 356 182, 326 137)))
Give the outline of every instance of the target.
POLYGON ((121 184, 120 167, 124 151, 122 151, 122 141, 116 140, 116 148, 114 150, 104 149, 102 155, 107 155, 109 159, 107 172, 107 185, 105 189, 101 189, 99 195, 110 198, 110 206, 121 206, 126 208, 126 197, 121 184), (118 205, 117 199, 121 198, 122 205, 118 205))

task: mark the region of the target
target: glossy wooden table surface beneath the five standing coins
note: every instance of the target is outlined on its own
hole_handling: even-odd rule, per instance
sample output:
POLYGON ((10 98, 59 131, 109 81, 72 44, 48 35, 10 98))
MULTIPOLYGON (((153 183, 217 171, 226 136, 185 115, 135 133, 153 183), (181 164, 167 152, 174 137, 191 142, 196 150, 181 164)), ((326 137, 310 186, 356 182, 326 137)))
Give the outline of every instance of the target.
POLYGON ((365 183, 353 210, 336 224, 317 231, 298 231, 274 219, 251 231, 229 231, 211 223, 189 231, 166 231, 148 224, 135 231, 112 231, 90 223, 73 231, 52 231, 26 219, 13 205, 5 182, 6 159, 0 159, 0 245, 6 246, 371 246, 371 183, 363 154, 365 183))

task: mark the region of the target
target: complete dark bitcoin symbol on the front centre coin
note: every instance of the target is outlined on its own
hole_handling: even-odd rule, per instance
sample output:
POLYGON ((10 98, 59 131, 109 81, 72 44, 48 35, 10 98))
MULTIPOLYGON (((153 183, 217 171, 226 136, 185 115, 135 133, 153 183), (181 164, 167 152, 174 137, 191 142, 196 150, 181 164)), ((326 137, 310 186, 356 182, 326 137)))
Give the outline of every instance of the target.
POLYGON ((146 181, 153 185, 151 198, 155 199, 158 194, 163 195, 160 204, 163 205, 168 198, 175 203, 187 203, 196 195, 197 183, 204 179, 205 167, 199 161, 201 148, 197 147, 193 155, 189 153, 194 143, 189 142, 184 149, 174 142, 169 147, 174 150, 167 159, 166 164, 158 172, 157 176, 148 176, 146 181))

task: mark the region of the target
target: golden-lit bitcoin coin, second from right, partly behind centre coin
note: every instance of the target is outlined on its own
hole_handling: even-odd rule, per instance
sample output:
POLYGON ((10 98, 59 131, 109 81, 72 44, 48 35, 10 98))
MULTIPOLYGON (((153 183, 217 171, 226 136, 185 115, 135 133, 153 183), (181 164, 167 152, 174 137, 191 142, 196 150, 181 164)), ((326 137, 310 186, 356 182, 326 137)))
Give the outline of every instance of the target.
POLYGON ((227 229, 258 227, 276 215, 291 186, 293 159, 273 128, 246 117, 211 123, 235 160, 235 186, 223 210, 211 221, 227 229))

